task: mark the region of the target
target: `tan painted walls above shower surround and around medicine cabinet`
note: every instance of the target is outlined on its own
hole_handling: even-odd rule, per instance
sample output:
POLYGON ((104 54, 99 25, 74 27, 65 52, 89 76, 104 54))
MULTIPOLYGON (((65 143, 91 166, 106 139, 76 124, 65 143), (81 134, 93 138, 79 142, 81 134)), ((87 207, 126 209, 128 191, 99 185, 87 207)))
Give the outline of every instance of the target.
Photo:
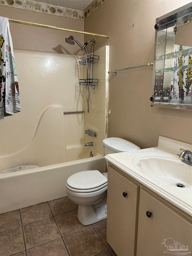
MULTIPOLYGON (((97 37, 95 47, 110 44, 110 70, 153 61, 155 20, 190 0, 108 0, 84 24, 81 20, 39 14, 0 5, 0 16, 52 26, 108 34, 97 37), (134 27, 133 27, 134 23, 134 27)), ((70 32, 10 23, 13 47, 64 54, 82 54, 75 44, 65 43, 70 32)), ((81 43, 84 36, 74 34, 81 43)), ((92 38, 92 37, 91 37, 92 38)), ((94 37, 93 37, 94 38, 94 37)), ((85 36, 85 41, 90 36, 85 36)), ((191 111, 150 107, 150 67, 110 74, 109 136, 122 137, 141 148, 157 146, 158 136, 191 143, 191 111)))

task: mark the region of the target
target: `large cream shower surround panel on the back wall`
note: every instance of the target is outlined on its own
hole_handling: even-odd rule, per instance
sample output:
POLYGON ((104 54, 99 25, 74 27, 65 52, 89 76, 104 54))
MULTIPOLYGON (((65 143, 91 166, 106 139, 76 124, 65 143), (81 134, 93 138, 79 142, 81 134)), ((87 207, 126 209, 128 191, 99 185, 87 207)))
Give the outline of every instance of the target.
MULTIPOLYGON (((5 118, 0 123, 0 155, 10 155, 19 152, 32 140, 42 113, 50 106, 62 106, 64 111, 76 111, 83 108, 83 95, 78 85, 81 76, 81 67, 78 65, 79 56, 32 51, 15 50, 16 69, 20 84, 20 98, 22 111, 19 115, 5 118), (9 143, 7 143, 9 142, 9 143)), ((51 122, 57 124, 56 117, 52 116, 51 122)), ((63 148, 55 145, 57 154, 48 164, 64 162, 64 150, 68 146, 80 145, 83 140, 84 120, 83 114, 64 115, 65 132, 63 148), (74 131, 75 127, 75 131, 74 131)), ((44 129, 47 140, 54 140, 54 136, 44 129)), ((41 144, 41 138, 39 140, 41 144)), ((53 141, 54 144, 54 141, 53 141)), ((44 148, 36 162, 39 166, 47 163, 47 151, 44 148)), ((34 148, 35 154, 35 148, 34 148)), ((22 165, 22 159, 20 165, 22 165)), ((26 160, 25 160, 26 161, 26 160)), ((32 164, 33 154, 29 159, 32 164)), ((6 168, 11 168, 14 163, 9 163, 6 168)))

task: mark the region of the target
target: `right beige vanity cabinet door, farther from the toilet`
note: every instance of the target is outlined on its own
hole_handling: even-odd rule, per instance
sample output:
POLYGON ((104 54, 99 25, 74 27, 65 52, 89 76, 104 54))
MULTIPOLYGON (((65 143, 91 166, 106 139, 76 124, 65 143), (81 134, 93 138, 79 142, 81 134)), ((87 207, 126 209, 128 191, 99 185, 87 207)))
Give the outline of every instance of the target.
POLYGON ((167 253, 192 255, 191 241, 191 222, 145 189, 141 189, 137 256, 165 256, 167 253), (146 215, 147 211, 149 217, 146 215))

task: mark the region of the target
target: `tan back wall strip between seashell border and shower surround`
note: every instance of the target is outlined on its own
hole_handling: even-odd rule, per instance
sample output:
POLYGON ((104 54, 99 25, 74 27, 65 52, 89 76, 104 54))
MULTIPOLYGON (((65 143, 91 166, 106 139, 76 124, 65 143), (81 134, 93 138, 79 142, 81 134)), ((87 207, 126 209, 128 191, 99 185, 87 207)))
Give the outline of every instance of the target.
MULTIPOLYGON (((83 20, 75 20, 33 11, 20 10, 2 5, 0 5, 0 16, 8 17, 9 19, 13 20, 22 20, 65 29, 84 31, 83 20)), ((78 47, 77 44, 67 44, 65 42, 65 38, 72 34, 81 44, 83 44, 83 34, 65 32, 55 29, 46 29, 11 22, 10 32, 13 40, 13 47, 17 50, 30 50, 74 55, 82 54, 82 50, 78 47)))

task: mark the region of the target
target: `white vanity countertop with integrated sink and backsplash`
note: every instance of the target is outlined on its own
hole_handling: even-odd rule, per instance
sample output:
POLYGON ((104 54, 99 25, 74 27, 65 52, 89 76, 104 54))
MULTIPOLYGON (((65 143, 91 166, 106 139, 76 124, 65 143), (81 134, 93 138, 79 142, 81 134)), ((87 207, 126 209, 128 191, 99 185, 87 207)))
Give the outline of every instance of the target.
POLYGON ((105 159, 192 216, 192 166, 177 156, 180 149, 192 151, 192 145, 160 136, 158 147, 109 154, 105 159))

